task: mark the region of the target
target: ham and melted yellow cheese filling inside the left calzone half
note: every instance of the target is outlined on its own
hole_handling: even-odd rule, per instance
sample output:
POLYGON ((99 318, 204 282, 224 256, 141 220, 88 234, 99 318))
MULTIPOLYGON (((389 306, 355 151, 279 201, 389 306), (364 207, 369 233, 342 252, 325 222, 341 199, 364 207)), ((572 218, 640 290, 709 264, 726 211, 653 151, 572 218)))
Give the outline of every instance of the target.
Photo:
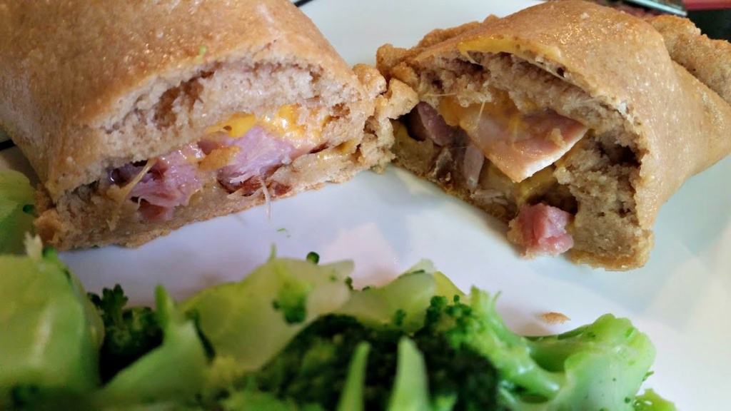
POLYGON ((208 128, 197 143, 110 170, 103 187, 107 197, 139 204, 146 221, 173 218, 176 207, 188 205, 210 182, 229 193, 250 196, 267 190, 266 178, 279 167, 322 148, 322 127, 328 119, 323 110, 296 105, 284 105, 266 116, 237 113, 208 128))

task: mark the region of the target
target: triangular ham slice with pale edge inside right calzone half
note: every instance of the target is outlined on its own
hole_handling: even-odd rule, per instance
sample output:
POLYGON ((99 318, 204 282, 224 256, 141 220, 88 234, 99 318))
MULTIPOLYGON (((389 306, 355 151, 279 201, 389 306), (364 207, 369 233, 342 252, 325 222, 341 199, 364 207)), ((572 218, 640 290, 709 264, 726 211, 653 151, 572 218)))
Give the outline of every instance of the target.
POLYGON ((461 127, 512 181, 520 182, 563 157, 588 128, 553 110, 523 114, 514 106, 466 110, 461 127))

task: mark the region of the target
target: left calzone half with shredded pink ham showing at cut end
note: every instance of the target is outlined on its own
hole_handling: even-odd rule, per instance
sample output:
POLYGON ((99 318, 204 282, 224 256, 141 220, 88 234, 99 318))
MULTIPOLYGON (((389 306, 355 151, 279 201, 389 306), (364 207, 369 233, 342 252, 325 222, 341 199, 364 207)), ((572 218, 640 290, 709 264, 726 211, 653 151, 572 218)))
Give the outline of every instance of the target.
POLYGON ((135 246, 382 166, 386 116, 416 98, 385 91, 288 0, 0 4, 0 125, 61 249, 135 246))

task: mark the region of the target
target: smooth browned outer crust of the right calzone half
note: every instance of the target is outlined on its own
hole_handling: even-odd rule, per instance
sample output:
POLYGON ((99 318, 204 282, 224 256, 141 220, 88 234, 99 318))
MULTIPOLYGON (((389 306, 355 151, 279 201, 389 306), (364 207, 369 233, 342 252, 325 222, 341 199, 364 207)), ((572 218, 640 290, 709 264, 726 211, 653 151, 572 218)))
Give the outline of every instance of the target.
MULTIPOLYGON (((723 51, 726 46, 714 47, 723 51)), ((425 73, 444 67, 445 61, 477 63, 480 53, 508 56, 503 63, 538 68, 545 84, 560 79, 566 90, 583 91, 603 110, 591 126, 620 131, 618 143, 631 148, 637 157, 639 173, 631 174, 629 181, 638 232, 625 240, 632 243, 624 247, 629 251, 602 254, 572 250, 570 257, 582 263, 613 269, 643 265, 652 244, 651 227, 662 203, 687 178, 731 151, 731 107, 703 82, 719 91, 724 84, 713 80, 712 75, 699 75, 699 80, 675 63, 663 37, 644 20, 585 1, 550 1, 506 18, 436 31, 411 50, 385 45, 379 49, 377 61, 387 78, 403 80, 420 99, 428 101, 431 84, 425 73), (434 37, 442 41, 428 40, 434 37)), ((714 61, 729 58, 731 53, 723 52, 714 61)), ((499 63, 493 68, 508 67, 499 63)), ((540 96, 539 87, 532 86, 531 97, 540 96)), ((563 116, 586 120, 576 118, 572 108, 561 107, 558 102, 550 108, 563 116)), ((559 181, 560 168, 556 173, 559 181)), ((570 180, 566 173, 563 180, 570 180)), ((595 235, 597 241, 600 237, 601 233, 595 235)))

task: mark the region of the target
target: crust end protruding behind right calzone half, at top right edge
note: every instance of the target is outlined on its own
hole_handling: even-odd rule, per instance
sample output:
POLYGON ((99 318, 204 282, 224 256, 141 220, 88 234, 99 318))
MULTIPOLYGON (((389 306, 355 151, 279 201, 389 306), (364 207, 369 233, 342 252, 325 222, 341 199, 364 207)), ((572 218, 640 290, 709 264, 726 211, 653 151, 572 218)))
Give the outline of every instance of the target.
POLYGON ((649 19, 670 57, 731 103, 731 44, 709 39, 691 20, 671 15, 649 19))

